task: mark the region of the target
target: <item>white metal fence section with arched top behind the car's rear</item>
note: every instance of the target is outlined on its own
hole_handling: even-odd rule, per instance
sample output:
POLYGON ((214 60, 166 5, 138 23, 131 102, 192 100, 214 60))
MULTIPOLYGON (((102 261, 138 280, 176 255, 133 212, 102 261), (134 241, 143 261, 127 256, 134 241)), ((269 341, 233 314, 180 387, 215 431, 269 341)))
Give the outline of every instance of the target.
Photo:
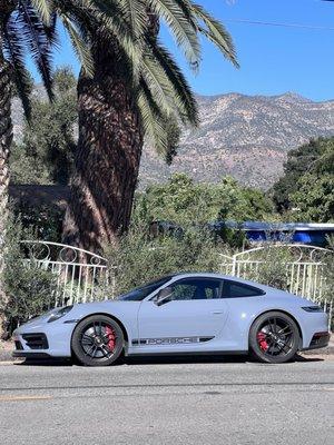
POLYGON ((334 251, 306 245, 266 245, 235 254, 220 255, 220 273, 266 283, 281 270, 281 287, 320 304, 333 316, 334 251), (272 269, 268 270, 268 267, 272 269))

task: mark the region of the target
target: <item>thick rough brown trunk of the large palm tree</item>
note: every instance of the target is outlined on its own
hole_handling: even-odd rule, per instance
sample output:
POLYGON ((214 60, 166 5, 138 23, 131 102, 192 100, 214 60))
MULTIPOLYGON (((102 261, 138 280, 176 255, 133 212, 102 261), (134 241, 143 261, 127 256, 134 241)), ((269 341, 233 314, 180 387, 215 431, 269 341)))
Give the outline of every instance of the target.
POLYGON ((78 82, 79 140, 63 241, 101 253, 129 226, 143 131, 117 48, 98 36, 94 57, 95 77, 81 72, 78 82))

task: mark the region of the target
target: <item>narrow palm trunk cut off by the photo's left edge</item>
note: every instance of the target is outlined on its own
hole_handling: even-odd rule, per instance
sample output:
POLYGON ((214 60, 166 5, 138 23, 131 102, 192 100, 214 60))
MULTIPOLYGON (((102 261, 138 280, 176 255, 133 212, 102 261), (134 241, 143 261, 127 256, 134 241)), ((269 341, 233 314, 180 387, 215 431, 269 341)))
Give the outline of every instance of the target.
POLYGON ((0 337, 3 337, 6 332, 4 319, 1 316, 1 307, 6 305, 7 298, 3 279, 1 277, 3 271, 3 248, 8 217, 8 159, 11 141, 11 68, 3 58, 0 38, 0 337))

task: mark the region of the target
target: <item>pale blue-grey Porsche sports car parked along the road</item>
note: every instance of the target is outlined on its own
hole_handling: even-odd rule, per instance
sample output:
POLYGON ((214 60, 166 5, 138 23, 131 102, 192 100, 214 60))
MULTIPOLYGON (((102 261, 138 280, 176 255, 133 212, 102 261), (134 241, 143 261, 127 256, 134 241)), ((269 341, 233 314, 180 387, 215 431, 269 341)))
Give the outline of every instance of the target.
POLYGON ((176 274, 117 299, 55 308, 14 332, 16 357, 76 357, 88 366, 154 354, 254 354, 284 363, 328 344, 314 303, 217 274, 176 274))

